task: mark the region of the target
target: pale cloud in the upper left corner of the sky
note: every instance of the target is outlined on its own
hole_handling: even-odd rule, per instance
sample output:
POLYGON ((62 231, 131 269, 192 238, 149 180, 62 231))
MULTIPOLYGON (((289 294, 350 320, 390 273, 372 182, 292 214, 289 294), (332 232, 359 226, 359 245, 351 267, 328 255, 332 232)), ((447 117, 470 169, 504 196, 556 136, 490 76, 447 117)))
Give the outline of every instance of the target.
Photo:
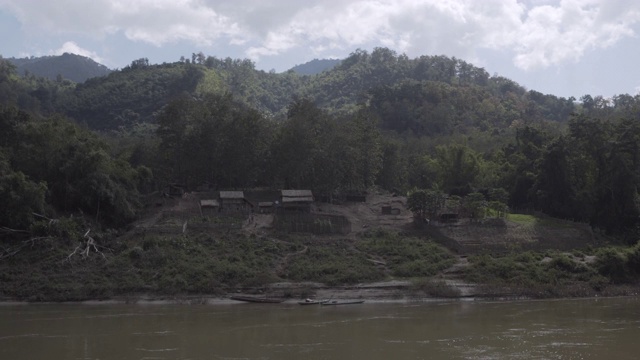
POLYGON ((25 28, 104 38, 121 31, 156 46, 175 41, 209 45, 242 37, 231 19, 198 0, 0 0, 25 28))

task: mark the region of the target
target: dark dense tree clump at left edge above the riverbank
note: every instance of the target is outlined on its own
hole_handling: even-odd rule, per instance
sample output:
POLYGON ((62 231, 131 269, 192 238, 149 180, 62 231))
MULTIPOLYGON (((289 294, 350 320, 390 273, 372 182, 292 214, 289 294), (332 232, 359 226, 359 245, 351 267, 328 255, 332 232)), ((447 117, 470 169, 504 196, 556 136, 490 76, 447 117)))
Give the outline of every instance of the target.
POLYGON ((34 215, 77 212, 110 226, 135 218, 149 169, 112 157, 95 133, 58 116, 1 107, 0 128, 0 226, 25 230, 34 215))

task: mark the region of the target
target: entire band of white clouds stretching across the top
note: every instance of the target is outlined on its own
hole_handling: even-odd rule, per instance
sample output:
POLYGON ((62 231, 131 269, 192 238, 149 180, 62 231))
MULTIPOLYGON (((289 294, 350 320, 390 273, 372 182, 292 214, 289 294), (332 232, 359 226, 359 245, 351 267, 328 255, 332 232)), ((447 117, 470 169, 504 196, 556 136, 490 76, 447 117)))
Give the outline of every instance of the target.
POLYGON ((41 33, 243 46, 254 60, 375 46, 475 59, 493 49, 524 70, 576 62, 635 36, 640 22, 633 0, 0 0, 0 9, 41 33))

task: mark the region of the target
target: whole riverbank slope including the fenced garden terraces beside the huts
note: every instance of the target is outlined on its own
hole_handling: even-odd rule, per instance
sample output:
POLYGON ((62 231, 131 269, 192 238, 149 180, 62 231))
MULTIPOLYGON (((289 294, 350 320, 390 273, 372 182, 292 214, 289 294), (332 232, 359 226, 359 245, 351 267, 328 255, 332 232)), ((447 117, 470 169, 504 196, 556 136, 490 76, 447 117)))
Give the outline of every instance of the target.
POLYGON ((322 205, 322 213, 340 210, 358 226, 345 236, 279 231, 268 226, 268 215, 256 215, 239 230, 97 233, 98 245, 82 252, 85 244, 70 239, 7 243, 13 250, 0 261, 0 301, 217 303, 243 294, 410 302, 639 293, 640 246, 605 246, 582 225, 519 216, 447 227, 445 236, 439 227, 416 228, 410 216, 374 212, 387 204, 402 202, 322 205))

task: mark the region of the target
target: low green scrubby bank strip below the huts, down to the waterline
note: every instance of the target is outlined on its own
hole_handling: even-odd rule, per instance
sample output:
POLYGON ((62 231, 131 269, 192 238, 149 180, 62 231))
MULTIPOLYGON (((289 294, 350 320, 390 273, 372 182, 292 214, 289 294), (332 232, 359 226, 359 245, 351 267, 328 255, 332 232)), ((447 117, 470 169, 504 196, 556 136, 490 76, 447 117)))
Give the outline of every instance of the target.
POLYGON ((466 257, 384 232, 353 240, 154 237, 104 257, 69 258, 69 251, 40 247, 0 262, 0 301, 217 304, 251 295, 420 302, 640 293, 639 247, 466 257))

